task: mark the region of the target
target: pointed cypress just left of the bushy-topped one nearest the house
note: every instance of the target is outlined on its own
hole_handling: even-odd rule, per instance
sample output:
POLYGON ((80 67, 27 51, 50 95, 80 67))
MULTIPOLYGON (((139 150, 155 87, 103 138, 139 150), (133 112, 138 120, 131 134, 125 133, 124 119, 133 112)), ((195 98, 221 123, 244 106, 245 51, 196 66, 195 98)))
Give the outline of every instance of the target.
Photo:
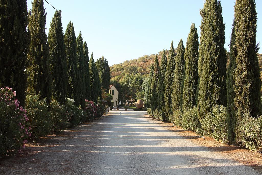
POLYGON ((101 85, 100 85, 97 67, 95 65, 95 61, 93 58, 93 52, 91 54, 90 61, 89 61, 89 76, 90 76, 90 89, 92 91, 90 93, 90 100, 97 103, 97 98, 100 97, 101 99, 101 85))

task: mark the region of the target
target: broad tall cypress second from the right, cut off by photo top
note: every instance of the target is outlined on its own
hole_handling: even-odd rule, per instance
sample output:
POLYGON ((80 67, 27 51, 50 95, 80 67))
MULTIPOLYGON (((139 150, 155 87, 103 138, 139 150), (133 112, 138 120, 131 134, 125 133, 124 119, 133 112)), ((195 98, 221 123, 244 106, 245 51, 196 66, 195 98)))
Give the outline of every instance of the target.
POLYGON ((216 104, 226 104, 225 24, 220 1, 206 0, 200 10, 200 48, 198 61, 199 92, 198 117, 216 104))

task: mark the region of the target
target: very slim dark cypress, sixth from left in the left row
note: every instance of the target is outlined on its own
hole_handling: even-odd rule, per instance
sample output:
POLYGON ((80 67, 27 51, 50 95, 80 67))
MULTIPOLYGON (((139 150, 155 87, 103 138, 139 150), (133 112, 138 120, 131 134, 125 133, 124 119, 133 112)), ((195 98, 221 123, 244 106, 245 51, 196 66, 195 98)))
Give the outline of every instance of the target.
POLYGON ((85 99, 90 98, 90 76, 89 76, 89 57, 88 57, 88 47, 86 42, 83 45, 84 54, 84 73, 85 73, 85 99))

